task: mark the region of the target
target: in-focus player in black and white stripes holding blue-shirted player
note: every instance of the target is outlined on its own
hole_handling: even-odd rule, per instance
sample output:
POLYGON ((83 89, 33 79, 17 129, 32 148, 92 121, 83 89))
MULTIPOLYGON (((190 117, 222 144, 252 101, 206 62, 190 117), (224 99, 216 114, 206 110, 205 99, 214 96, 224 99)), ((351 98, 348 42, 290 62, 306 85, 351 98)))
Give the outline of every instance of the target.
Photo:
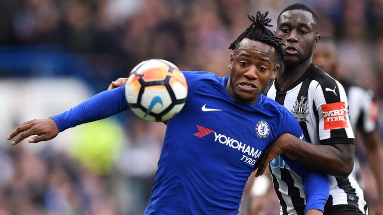
POLYGON ((264 94, 293 113, 306 140, 312 144, 302 141, 301 145, 291 146, 287 141, 290 135, 286 134, 286 141, 279 138, 257 162, 256 176, 271 161, 269 167, 281 214, 302 215, 306 200, 300 177, 283 158, 273 159, 284 151, 328 174, 330 197, 325 215, 366 214, 363 191, 350 175, 354 166, 354 133, 345 90, 312 63, 314 48, 321 37, 318 17, 306 5, 292 4, 279 14, 275 34, 285 44, 285 58, 264 94))

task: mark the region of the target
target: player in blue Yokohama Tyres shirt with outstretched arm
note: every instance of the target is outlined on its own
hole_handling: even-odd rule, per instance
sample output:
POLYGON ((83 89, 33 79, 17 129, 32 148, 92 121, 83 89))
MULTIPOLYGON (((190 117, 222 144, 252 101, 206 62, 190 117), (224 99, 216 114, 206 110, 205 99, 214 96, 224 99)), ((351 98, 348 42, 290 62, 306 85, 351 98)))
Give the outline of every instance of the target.
MULTIPOLYGON (((249 16, 251 25, 230 45, 230 77, 183 71, 188 99, 167 123, 144 214, 236 215, 247 178, 266 147, 286 132, 295 136, 292 142, 304 138, 294 116, 261 94, 283 59, 279 38, 265 27, 270 22, 266 15, 249 16)), ((24 122, 7 139, 16 137, 11 144, 30 135, 37 135, 30 143, 49 140, 69 127, 128 108, 125 87, 116 88, 51 118, 24 122)), ((282 156, 302 178, 305 215, 322 215, 329 195, 327 176, 282 156)))

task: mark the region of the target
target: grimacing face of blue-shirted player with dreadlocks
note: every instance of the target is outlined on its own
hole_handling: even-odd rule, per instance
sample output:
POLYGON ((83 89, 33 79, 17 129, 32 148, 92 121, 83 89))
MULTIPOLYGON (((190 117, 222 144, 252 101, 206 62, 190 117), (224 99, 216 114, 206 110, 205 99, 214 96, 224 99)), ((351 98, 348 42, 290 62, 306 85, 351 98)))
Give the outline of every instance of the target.
POLYGON ((275 60, 274 47, 243 39, 230 55, 229 94, 238 101, 255 104, 270 79, 275 78, 279 68, 275 60))

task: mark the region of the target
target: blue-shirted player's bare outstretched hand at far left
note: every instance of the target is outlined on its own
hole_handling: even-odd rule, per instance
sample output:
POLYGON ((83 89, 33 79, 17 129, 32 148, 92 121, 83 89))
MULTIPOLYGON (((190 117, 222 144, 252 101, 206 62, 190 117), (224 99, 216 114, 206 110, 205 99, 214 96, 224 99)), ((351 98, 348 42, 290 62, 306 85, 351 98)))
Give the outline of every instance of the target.
POLYGON ((33 119, 18 125, 16 129, 14 129, 13 132, 6 137, 6 139, 11 140, 20 134, 11 142, 12 145, 16 145, 21 140, 29 136, 37 135, 28 139, 29 143, 37 143, 40 141, 53 139, 57 136, 58 133, 59 130, 57 124, 53 119, 33 119))

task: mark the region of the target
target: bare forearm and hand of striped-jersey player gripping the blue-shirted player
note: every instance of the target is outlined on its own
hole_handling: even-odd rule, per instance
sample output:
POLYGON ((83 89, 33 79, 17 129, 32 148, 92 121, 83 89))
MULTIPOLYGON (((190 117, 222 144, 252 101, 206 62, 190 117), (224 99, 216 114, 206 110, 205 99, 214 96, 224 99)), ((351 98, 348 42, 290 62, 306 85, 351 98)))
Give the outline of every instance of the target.
POLYGON ((284 133, 261 156, 256 176, 262 175, 269 161, 282 153, 327 175, 345 177, 354 167, 354 144, 314 145, 284 133))

